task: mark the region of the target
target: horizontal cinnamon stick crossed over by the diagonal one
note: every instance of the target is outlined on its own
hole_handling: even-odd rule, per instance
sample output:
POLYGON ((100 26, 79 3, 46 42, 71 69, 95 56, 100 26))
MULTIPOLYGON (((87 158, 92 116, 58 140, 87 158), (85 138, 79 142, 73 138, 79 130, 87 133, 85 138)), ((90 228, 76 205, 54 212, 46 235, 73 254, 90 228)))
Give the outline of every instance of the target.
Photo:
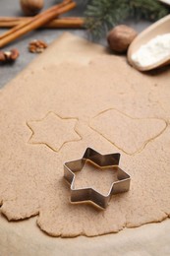
MULTIPOLYGON (((0 28, 13 28, 21 25, 23 22, 30 21, 31 17, 0 17, 0 28)), ((41 28, 47 29, 83 29, 85 25, 84 18, 64 17, 42 25, 41 28)))

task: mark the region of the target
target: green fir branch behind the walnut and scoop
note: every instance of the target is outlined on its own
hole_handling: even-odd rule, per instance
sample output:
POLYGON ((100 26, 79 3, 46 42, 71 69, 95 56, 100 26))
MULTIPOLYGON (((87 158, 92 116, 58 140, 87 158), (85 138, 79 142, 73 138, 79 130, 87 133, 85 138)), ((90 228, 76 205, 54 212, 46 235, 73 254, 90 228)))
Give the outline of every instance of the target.
POLYGON ((101 37, 127 18, 156 21, 168 13, 156 0, 86 0, 85 26, 94 37, 101 37))

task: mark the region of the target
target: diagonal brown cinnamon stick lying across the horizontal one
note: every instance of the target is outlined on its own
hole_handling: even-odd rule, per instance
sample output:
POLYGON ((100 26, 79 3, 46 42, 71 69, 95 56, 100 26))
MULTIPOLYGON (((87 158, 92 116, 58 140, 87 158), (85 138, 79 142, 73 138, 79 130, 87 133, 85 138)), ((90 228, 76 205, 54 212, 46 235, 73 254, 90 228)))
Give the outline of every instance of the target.
POLYGON ((5 46, 23 34, 31 32, 32 30, 35 30, 52 21, 56 16, 70 11, 75 6, 76 3, 72 0, 65 0, 61 4, 55 5, 43 13, 34 16, 32 20, 23 22, 8 32, 4 32, 2 35, 0 35, 0 47, 5 46))

